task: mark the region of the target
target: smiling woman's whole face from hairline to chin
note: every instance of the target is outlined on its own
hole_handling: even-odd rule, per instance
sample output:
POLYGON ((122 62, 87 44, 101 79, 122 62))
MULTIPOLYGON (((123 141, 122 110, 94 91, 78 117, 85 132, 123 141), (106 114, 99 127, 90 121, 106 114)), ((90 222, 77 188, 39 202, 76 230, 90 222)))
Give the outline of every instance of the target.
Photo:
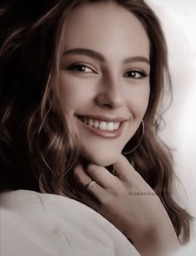
POLYGON ((78 129, 81 155, 110 165, 134 135, 149 102, 149 38, 115 3, 85 4, 66 20, 61 103, 78 129))

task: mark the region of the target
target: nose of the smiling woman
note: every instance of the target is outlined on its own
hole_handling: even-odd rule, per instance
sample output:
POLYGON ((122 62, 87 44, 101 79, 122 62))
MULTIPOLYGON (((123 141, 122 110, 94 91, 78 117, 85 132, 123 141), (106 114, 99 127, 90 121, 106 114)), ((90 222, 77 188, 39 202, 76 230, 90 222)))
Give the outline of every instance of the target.
POLYGON ((124 97, 118 78, 107 78, 100 81, 96 104, 102 108, 120 108, 124 105, 124 97))

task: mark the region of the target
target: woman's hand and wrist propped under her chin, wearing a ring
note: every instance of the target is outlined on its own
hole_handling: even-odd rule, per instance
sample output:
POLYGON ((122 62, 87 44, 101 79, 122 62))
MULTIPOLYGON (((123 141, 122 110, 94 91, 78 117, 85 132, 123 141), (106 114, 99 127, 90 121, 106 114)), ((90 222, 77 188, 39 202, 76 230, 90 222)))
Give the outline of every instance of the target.
POLYGON ((162 255, 158 252, 179 246, 169 216, 149 184, 122 155, 113 167, 118 177, 95 164, 78 164, 75 176, 83 188, 83 202, 120 229, 142 255, 162 255))

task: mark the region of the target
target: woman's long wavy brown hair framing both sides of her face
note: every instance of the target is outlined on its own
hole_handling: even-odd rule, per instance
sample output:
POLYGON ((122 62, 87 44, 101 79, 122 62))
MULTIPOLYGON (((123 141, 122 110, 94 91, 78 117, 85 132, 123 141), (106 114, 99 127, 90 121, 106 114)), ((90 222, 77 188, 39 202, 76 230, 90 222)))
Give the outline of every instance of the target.
MULTIPOLYGON (((71 9, 99 2, 103 1, 9 1, 0 6, 0 191, 32 189, 76 198, 69 177, 80 143, 61 109, 58 92, 66 36, 62 31, 71 9)), ((145 134, 127 158, 159 195, 181 243, 187 243, 191 216, 171 197, 172 153, 158 134, 162 119, 158 108, 165 85, 171 89, 164 33, 144 1, 104 2, 130 10, 148 33, 151 71, 145 134)))

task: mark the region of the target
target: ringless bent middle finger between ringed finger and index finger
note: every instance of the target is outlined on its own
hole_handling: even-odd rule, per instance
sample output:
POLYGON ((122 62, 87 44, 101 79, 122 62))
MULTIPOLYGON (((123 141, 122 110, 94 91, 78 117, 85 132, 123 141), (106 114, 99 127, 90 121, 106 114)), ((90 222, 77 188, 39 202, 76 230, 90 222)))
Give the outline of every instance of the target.
POLYGON ((98 166, 96 164, 89 164, 86 169, 86 173, 95 180, 102 188, 107 191, 114 191, 116 186, 119 186, 119 178, 111 174, 106 168, 98 166))

